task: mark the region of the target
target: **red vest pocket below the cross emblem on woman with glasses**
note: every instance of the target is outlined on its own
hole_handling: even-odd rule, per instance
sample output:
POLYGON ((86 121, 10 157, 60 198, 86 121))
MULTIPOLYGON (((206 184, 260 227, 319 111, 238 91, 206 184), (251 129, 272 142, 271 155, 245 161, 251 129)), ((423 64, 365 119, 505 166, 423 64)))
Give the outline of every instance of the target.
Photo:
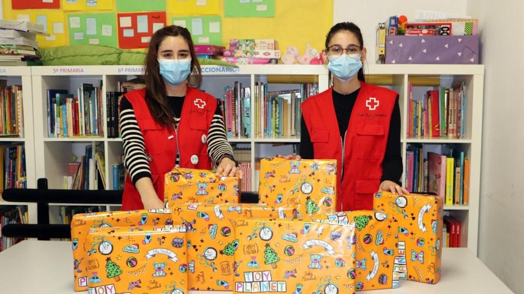
POLYGON ((356 133, 356 152, 359 156, 376 156, 385 152, 384 123, 361 122, 356 133))

